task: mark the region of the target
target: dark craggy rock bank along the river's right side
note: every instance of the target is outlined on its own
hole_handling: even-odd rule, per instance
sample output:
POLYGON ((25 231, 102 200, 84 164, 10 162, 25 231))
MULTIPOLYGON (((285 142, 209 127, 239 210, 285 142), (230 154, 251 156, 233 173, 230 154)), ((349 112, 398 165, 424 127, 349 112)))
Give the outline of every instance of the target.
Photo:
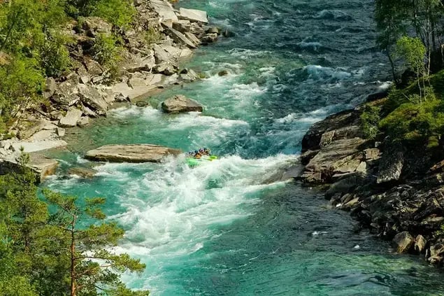
POLYGON ((360 229, 391 240, 395 251, 443 265, 444 160, 434 160, 424 147, 392 144, 387 137, 364 139, 362 112, 358 106, 310 128, 303 137, 304 167, 297 179, 327 185, 331 206, 350 211, 360 229))

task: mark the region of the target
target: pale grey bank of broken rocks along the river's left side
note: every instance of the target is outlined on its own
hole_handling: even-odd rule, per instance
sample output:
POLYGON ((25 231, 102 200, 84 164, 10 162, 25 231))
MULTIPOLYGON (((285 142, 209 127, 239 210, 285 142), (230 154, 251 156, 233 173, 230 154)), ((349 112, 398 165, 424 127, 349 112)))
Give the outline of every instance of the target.
MULTIPOLYGON (((180 69, 180 62, 189 58, 199 45, 215 42, 220 35, 230 35, 228 31, 208 26, 205 11, 177 10, 165 0, 134 1, 134 5, 136 21, 118 32, 122 59, 117 73, 90 55, 98 36, 116 33, 111 24, 100 17, 85 17, 81 24, 75 21, 66 24, 63 34, 73 40, 72 71, 59 78, 46 78, 44 103, 27 106, 21 120, 10 129, 13 136, 0 141, 0 174, 15 166, 15 158, 20 148, 24 148, 24 152, 32 153, 30 166, 38 174, 38 180, 43 180, 55 171, 57 162, 37 153, 66 147, 62 140, 66 128, 84 127, 91 118, 106 116, 115 102, 135 102, 167 85, 199 79, 192 69, 180 69)), ((194 109, 201 108, 194 103, 194 109)), ((187 104, 180 106, 180 110, 186 111, 187 104)))

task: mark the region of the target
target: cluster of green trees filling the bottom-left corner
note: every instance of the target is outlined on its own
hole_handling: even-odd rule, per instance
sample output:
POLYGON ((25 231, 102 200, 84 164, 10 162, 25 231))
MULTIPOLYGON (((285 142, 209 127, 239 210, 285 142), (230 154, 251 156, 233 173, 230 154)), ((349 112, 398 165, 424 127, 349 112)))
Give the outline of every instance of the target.
POLYGON ((22 153, 17 172, 0 176, 0 296, 148 295, 120 281, 120 273, 145 265, 108 251, 124 231, 104 222, 105 199, 80 206, 76 197, 44 190, 44 202, 28 162, 22 153))

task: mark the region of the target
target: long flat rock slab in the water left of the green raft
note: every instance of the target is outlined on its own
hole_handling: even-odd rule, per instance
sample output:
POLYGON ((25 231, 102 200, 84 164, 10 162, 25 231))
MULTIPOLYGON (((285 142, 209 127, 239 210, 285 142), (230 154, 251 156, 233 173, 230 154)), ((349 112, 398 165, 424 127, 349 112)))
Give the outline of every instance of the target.
POLYGON ((105 145, 90 150, 87 160, 96 162, 161 162, 168 155, 178 155, 182 151, 150 144, 105 145))

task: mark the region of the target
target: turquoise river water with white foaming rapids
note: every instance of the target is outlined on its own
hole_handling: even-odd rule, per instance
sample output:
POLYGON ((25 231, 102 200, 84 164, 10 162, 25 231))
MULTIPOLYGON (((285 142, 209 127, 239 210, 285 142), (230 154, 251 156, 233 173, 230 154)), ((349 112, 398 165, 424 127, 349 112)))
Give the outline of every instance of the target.
POLYGON ((69 153, 45 186, 107 197, 106 213, 127 230, 115 251, 141 258, 152 295, 443 295, 441 273, 421 258, 389 253, 322 192, 278 181, 297 162, 303 134, 330 113, 387 86, 375 50, 371 0, 190 0, 234 38, 196 50, 184 66, 198 83, 120 106, 69 131, 69 153), (228 70, 229 75, 217 73, 228 70), (166 115, 158 104, 185 94, 206 108, 166 115), (106 143, 208 146, 222 158, 195 169, 185 157, 162 164, 98 164, 85 151, 106 143))

